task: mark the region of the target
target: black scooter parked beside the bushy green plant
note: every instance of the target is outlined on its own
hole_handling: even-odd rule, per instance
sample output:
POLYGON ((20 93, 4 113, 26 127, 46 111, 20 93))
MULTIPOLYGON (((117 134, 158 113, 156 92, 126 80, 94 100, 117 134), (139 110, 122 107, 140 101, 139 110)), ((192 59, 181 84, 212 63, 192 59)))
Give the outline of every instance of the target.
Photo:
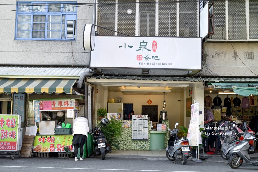
POLYGON ((102 159, 105 159, 105 154, 111 152, 111 147, 108 146, 108 142, 106 140, 106 137, 103 134, 103 131, 100 129, 102 126, 106 126, 109 121, 106 118, 102 118, 100 120, 101 125, 99 127, 95 127, 93 131, 93 144, 94 144, 94 152, 96 155, 101 155, 102 159))

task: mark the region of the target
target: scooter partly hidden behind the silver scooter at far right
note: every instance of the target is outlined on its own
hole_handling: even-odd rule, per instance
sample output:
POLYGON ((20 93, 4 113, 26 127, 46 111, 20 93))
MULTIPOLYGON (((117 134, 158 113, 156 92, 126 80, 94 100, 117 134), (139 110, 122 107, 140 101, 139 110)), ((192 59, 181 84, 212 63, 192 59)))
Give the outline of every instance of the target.
POLYGON ((240 133, 235 127, 236 125, 233 124, 234 130, 228 131, 227 135, 223 139, 223 144, 222 144, 222 150, 221 150, 221 156, 223 159, 228 160, 230 156, 228 155, 229 151, 236 145, 238 144, 241 140, 232 140, 232 135, 236 134, 238 137, 240 137, 240 133))

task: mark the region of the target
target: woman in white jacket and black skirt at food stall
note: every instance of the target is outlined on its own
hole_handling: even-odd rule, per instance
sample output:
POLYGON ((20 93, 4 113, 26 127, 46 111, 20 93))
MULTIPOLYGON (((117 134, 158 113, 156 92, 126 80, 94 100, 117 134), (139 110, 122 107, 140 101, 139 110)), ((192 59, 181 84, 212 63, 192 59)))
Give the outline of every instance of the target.
POLYGON ((84 117, 77 117, 74 120, 73 124, 73 145, 74 145, 74 155, 75 155, 75 161, 78 161, 77 154, 78 149, 80 147, 80 161, 82 161, 82 154, 83 154, 83 146, 85 142, 87 141, 88 133, 89 132, 89 126, 88 126, 88 120, 84 117))

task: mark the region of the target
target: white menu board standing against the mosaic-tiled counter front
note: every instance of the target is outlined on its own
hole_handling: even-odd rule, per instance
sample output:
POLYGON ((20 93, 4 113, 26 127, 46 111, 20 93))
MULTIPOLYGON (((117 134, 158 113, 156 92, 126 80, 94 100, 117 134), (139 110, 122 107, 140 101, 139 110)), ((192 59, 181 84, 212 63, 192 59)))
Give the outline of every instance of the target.
POLYGON ((132 116, 132 140, 148 140, 148 115, 132 116))

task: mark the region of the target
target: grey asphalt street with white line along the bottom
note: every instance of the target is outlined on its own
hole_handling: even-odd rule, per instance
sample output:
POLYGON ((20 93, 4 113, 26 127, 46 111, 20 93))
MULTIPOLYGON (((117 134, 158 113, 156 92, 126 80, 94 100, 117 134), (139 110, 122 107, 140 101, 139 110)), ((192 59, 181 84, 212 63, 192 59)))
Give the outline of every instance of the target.
MULTIPOLYGON (((191 159, 191 158, 190 158, 191 159)), ((5 172, 77 172, 77 171, 164 171, 164 172, 211 172, 211 171, 256 171, 257 166, 245 165, 238 169, 231 169, 227 160, 219 155, 212 156, 202 163, 196 163, 188 159, 187 164, 182 165, 179 161, 172 164, 166 157, 154 156, 116 156, 108 155, 105 160, 101 157, 85 158, 83 161, 74 161, 67 158, 0 158, 0 171, 5 172)))

